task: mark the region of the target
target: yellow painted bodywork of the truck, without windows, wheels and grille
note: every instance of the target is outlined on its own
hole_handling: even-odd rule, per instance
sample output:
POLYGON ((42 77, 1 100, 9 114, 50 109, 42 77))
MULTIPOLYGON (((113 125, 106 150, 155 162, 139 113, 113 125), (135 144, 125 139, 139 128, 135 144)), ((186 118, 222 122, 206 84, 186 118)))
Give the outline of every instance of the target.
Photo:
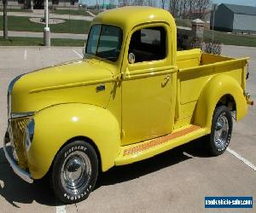
POLYGON ((35 112, 35 135, 26 152, 32 178, 42 178, 61 147, 74 139, 93 144, 105 171, 209 134, 223 95, 236 101, 237 120, 246 115, 247 59, 199 49, 177 52, 175 21, 163 9, 113 9, 97 15, 95 24, 122 29, 119 60, 89 56, 15 82, 11 112, 35 112), (166 28, 166 58, 129 64, 132 33, 153 26, 166 28))

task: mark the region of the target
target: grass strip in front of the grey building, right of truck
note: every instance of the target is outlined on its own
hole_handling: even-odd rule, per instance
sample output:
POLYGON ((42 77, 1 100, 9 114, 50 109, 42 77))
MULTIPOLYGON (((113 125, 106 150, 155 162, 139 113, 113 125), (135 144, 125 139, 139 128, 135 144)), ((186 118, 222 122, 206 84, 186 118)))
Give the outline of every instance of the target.
MULTIPOLYGON (((205 39, 212 40, 212 31, 205 31, 205 39)), ((226 45, 256 47, 256 36, 214 32, 214 40, 226 45)))

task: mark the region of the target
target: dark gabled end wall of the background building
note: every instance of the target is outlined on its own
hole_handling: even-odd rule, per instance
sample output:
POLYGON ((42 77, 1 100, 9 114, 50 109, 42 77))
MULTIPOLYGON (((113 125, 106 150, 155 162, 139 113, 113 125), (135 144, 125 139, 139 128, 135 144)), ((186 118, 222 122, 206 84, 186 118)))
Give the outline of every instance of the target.
MULTIPOLYGON (((211 15, 211 28, 212 28, 213 14, 211 15)), ((224 4, 218 6, 215 13, 214 29, 219 31, 232 32, 233 31, 234 14, 224 4)))

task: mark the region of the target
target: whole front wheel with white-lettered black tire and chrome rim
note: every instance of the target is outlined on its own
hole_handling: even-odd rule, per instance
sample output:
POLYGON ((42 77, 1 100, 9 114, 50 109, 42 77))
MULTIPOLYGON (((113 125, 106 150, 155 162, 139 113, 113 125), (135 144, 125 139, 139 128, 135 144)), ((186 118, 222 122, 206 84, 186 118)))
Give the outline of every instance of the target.
POLYGON ((73 204, 88 198, 97 176, 95 149, 85 141, 73 141, 57 153, 51 184, 58 199, 65 204, 73 204))

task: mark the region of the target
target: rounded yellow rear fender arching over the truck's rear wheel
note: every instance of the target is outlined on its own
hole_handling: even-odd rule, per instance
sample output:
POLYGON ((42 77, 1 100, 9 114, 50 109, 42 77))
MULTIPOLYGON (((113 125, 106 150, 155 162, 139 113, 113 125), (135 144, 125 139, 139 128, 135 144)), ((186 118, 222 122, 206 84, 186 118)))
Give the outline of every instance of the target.
POLYGON ((214 109, 224 95, 231 95, 236 102, 236 120, 247 114, 247 101, 241 85, 235 78, 219 74, 211 78, 202 90, 195 108, 195 124, 206 128, 207 133, 211 132, 214 109))

